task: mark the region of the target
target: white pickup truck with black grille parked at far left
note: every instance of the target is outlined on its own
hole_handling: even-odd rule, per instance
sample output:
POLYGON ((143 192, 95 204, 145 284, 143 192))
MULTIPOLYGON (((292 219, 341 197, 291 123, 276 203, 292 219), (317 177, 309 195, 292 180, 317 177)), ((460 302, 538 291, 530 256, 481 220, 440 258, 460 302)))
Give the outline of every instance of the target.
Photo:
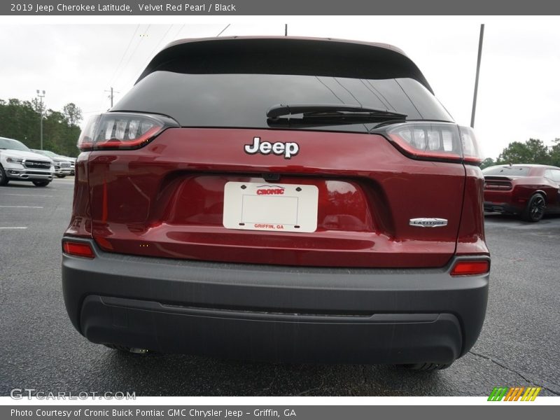
POLYGON ((10 180, 48 186, 55 173, 52 160, 34 153, 21 141, 0 137, 0 186, 10 180))

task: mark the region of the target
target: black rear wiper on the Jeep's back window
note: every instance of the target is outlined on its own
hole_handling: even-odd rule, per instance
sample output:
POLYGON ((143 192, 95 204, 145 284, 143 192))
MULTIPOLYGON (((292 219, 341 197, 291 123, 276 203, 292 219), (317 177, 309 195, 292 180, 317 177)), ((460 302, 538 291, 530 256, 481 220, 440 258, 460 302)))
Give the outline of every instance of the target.
POLYGON ((387 109, 370 108, 349 104, 278 104, 271 106, 267 117, 276 120, 282 116, 303 114, 304 118, 381 118, 383 120, 405 120, 406 114, 388 111, 387 109))

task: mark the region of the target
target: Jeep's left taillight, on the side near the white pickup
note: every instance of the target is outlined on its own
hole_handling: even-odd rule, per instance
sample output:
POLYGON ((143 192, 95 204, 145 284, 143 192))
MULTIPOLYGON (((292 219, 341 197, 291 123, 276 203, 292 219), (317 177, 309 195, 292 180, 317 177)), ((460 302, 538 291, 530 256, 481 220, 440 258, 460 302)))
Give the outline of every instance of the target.
POLYGON ((78 139, 78 148, 81 151, 141 148, 168 127, 179 125, 172 118, 153 114, 103 113, 87 122, 78 139))

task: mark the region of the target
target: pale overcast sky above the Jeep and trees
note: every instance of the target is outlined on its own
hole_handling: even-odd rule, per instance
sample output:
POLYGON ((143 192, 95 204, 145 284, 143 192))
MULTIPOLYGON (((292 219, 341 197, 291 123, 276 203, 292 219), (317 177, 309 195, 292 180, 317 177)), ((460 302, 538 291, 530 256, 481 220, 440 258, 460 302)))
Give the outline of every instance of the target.
MULTIPOLYGON (((45 90, 50 109, 74 102, 85 116, 109 108, 146 64, 178 38, 217 36, 228 20, 137 18, 0 19, 0 99, 31 100, 45 90), (72 19, 72 20, 70 20, 72 19), (104 19, 107 21, 108 19, 104 19), (50 22, 82 22, 80 25, 50 22), (109 19, 115 22, 115 19, 109 19), (167 23, 169 22, 169 23, 167 23), (204 22, 204 23, 200 23, 204 22), (45 24, 47 23, 47 24, 45 24)), ((391 43, 420 67, 457 123, 470 124, 479 24, 485 23, 475 130, 486 157, 511 141, 560 137, 560 18, 231 18, 222 36, 288 34, 391 43), (248 22, 260 22, 253 25, 248 22)))

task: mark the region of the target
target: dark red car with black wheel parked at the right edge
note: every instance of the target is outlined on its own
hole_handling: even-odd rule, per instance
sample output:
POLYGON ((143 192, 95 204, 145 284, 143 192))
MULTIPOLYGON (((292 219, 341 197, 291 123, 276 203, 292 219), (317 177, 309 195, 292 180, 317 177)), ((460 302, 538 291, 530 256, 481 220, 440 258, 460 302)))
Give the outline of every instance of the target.
POLYGON ((496 165, 484 174, 484 211, 516 214, 538 222, 560 213, 560 168, 547 165, 496 165))

